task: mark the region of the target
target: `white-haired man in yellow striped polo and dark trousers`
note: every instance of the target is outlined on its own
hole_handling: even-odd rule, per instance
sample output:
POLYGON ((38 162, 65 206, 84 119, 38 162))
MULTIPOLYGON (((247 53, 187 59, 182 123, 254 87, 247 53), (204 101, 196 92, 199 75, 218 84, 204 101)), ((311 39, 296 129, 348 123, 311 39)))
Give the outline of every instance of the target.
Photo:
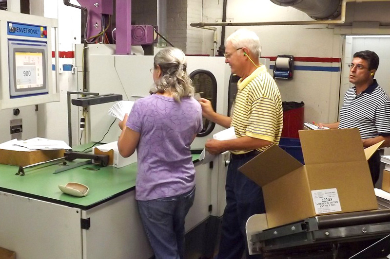
POLYGON ((204 117, 226 128, 234 126, 237 137, 223 141, 209 139, 205 145, 211 154, 231 152, 218 259, 241 259, 244 250, 247 258, 262 258, 249 256, 245 234, 248 218, 265 213, 262 190, 238 168, 279 142, 283 110, 279 89, 266 67, 259 63, 259 56, 260 41, 254 32, 246 29, 234 32, 226 40, 225 52, 225 63, 241 77, 232 117, 216 113, 207 99, 199 101, 204 117))

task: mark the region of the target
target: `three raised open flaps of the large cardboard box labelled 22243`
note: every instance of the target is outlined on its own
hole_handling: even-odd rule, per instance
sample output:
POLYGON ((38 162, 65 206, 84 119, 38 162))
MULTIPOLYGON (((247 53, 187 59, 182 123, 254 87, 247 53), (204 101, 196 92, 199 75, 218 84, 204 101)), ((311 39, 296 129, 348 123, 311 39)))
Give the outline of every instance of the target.
MULTIPOLYGON (((363 149, 358 129, 301 130, 299 137, 306 165, 367 161, 384 141, 363 149)), ((301 166, 279 146, 272 145, 239 170, 259 186, 264 186, 301 166), (258 173, 259 168, 263 173, 258 173)))

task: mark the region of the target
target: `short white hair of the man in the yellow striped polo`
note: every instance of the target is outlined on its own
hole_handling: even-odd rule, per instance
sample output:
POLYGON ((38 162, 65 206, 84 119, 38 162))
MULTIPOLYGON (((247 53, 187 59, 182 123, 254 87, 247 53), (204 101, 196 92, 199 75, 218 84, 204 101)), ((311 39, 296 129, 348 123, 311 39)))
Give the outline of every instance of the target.
POLYGON ((254 32, 248 29, 235 31, 226 39, 226 42, 232 43, 235 49, 247 47, 254 56, 260 57, 260 39, 254 32))

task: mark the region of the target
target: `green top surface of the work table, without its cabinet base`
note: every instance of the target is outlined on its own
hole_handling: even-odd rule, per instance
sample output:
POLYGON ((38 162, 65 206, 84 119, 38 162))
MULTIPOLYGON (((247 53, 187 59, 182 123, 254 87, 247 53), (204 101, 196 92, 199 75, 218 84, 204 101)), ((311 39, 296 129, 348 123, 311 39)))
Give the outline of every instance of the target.
MULTIPOLYGON (((193 161, 198 157, 198 154, 194 154, 193 161)), ((85 161, 76 159, 67 163, 72 165, 78 160, 85 161)), ((18 172, 17 166, 0 164, 0 190, 65 206, 89 209, 135 189, 137 163, 122 168, 87 164, 53 173, 61 167, 63 167, 61 163, 58 163, 43 168, 26 169, 25 175, 20 176, 15 175, 18 172), (74 197, 62 193, 58 186, 66 185, 68 182, 88 186, 88 195, 74 197)))

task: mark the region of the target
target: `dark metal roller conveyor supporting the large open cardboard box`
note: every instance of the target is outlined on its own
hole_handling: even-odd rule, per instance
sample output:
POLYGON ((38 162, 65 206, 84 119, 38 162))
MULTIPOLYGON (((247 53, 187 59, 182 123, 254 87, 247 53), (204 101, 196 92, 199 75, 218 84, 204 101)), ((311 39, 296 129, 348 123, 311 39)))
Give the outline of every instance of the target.
POLYGON ((248 238, 251 254, 262 253, 264 259, 386 258, 390 209, 311 217, 248 238))

